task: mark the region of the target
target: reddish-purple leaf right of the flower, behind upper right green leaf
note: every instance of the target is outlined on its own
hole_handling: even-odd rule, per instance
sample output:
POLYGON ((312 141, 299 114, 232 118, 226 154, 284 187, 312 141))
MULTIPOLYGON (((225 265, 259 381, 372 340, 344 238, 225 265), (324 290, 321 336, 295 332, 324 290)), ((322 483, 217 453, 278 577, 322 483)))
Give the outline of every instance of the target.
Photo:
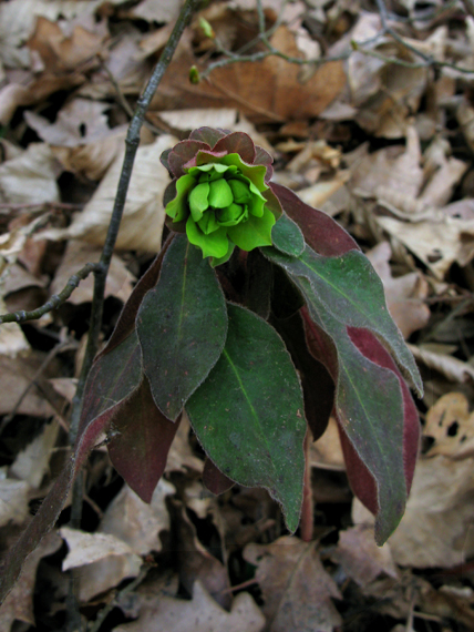
POLYGON ((270 188, 282 210, 301 228, 306 243, 320 255, 337 256, 357 249, 356 241, 332 217, 305 204, 298 195, 281 184, 270 182, 270 188))

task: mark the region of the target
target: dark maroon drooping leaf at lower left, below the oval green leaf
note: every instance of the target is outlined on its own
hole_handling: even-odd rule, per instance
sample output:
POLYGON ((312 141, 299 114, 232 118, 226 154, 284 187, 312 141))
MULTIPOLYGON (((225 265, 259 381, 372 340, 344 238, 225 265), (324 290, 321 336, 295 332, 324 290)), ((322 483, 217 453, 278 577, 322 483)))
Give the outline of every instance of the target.
POLYGON ((156 407, 146 377, 114 409, 110 419, 109 456, 117 472, 144 502, 151 502, 165 471, 178 426, 179 421, 173 424, 156 407))

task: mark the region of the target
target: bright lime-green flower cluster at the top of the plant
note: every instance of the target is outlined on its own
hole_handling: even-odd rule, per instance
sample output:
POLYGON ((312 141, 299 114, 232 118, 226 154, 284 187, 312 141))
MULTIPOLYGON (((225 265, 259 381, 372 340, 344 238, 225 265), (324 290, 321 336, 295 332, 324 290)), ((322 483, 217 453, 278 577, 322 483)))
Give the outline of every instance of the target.
POLYGON ((214 266, 235 246, 247 252, 270 246, 276 217, 266 207, 266 167, 246 164, 237 153, 206 157, 212 162, 188 167, 176 181, 167 215, 186 223, 187 238, 204 257, 213 257, 214 266))

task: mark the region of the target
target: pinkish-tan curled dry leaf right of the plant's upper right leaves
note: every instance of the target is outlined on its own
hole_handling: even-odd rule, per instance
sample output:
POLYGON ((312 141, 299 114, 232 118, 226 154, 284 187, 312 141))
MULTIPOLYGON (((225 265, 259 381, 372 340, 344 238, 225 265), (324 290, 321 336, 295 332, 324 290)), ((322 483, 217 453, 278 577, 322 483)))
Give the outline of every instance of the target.
POLYGON ((427 297, 427 282, 419 272, 412 272, 393 278, 390 268, 392 248, 388 242, 381 242, 367 253, 385 290, 389 312, 402 332, 409 338, 413 332, 424 327, 431 316, 423 299, 427 297))

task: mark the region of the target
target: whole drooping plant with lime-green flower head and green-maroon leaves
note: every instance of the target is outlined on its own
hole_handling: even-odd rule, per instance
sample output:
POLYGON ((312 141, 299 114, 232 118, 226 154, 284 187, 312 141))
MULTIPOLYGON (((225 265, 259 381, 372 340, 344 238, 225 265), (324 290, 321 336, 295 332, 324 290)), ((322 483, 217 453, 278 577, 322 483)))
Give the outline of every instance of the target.
POLYGON ((405 380, 419 395, 422 384, 380 278, 331 217, 271 182, 271 156, 247 134, 200 128, 162 162, 169 234, 94 361, 74 458, 31 538, 104 430, 112 463, 150 502, 184 414, 207 488, 266 488, 295 532, 305 437, 319 438, 332 412, 382 544, 419 447, 405 380))

